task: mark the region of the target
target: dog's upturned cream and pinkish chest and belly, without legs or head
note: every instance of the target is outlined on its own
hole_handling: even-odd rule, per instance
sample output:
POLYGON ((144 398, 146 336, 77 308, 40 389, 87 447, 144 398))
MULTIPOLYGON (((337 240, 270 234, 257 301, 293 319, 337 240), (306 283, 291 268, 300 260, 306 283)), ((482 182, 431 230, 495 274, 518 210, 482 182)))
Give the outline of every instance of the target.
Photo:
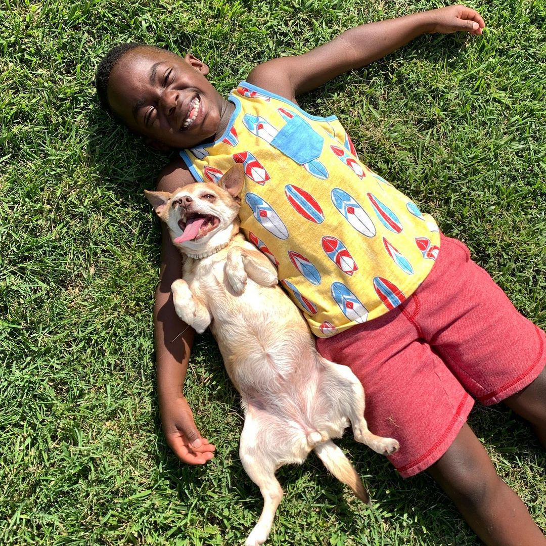
POLYGON ((212 334, 243 406, 282 416, 306 435, 323 364, 305 319, 280 287, 249 278, 244 293, 235 295, 223 268, 212 269, 191 289, 206 298, 212 334))

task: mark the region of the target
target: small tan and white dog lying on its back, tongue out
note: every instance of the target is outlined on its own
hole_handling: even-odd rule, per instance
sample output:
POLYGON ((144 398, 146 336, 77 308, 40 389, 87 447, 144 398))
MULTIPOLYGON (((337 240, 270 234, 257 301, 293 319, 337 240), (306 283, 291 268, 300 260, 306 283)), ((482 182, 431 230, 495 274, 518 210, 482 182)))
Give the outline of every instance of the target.
POLYGON ((269 537, 283 496, 277 468, 302 463, 314 450, 337 479, 369 502, 359 475, 331 439, 341 438, 349 419, 355 440, 377 453, 393 453, 399 444, 368 430, 357 377, 318 354, 305 319, 277 284, 275 267, 239 233, 244 177, 237 164, 218 185, 145 193, 186 256, 183 278, 171 286, 176 313, 198 333, 210 327, 241 395, 239 455, 264 497, 245 542, 256 546, 269 537))

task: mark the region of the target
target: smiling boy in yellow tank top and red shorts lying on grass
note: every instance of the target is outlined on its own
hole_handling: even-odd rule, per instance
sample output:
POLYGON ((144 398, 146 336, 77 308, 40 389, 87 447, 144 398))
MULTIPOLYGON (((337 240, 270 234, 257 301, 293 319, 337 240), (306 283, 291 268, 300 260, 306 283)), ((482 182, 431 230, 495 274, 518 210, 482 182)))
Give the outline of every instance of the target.
MULTIPOLYGON (((440 235, 430 217, 356 161, 335 118, 308 116, 296 104, 298 94, 420 34, 481 34, 484 26, 476 11, 458 5, 353 28, 304 55, 260 64, 229 101, 192 55, 182 60, 127 44, 102 62, 97 88, 106 108, 149 145, 182 150, 158 190, 215 180, 230 164, 245 164, 242 227, 278 262, 319 351, 363 382, 371 430, 400 440, 391 461, 401 474, 427 470, 485 543, 546 544, 466 425, 473 401, 461 385, 484 403, 505 402, 546 445, 544 333, 514 310, 464 245, 440 235), (276 161, 262 161, 264 150, 276 161), (319 234, 317 227, 331 230, 321 232, 322 254, 308 260, 306 232, 319 234), (325 291, 326 279, 334 282, 325 291), (479 305, 461 297, 469 286, 479 305)), ((180 271, 164 230, 155 305, 160 410, 179 458, 204 464, 214 446, 200 436, 182 395, 193 332, 170 296, 180 271)))

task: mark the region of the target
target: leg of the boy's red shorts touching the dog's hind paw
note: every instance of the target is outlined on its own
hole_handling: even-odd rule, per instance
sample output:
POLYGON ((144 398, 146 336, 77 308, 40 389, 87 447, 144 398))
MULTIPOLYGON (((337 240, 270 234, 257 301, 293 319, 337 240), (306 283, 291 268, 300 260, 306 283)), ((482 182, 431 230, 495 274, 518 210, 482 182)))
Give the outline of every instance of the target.
POLYGON ((400 442, 388 458, 403 477, 436 462, 465 424, 472 398, 403 312, 318 339, 317 348, 364 385, 369 428, 400 442))

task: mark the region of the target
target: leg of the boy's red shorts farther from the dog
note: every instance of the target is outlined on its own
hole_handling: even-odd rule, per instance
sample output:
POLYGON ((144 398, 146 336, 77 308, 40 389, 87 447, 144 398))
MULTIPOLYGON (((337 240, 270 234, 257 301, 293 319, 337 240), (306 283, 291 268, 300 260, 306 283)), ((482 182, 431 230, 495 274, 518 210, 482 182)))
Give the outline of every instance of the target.
POLYGON ((436 275, 416 293, 425 339, 485 405, 525 388, 544 369, 544 332, 515 309, 460 241, 443 238, 436 265, 436 275))

